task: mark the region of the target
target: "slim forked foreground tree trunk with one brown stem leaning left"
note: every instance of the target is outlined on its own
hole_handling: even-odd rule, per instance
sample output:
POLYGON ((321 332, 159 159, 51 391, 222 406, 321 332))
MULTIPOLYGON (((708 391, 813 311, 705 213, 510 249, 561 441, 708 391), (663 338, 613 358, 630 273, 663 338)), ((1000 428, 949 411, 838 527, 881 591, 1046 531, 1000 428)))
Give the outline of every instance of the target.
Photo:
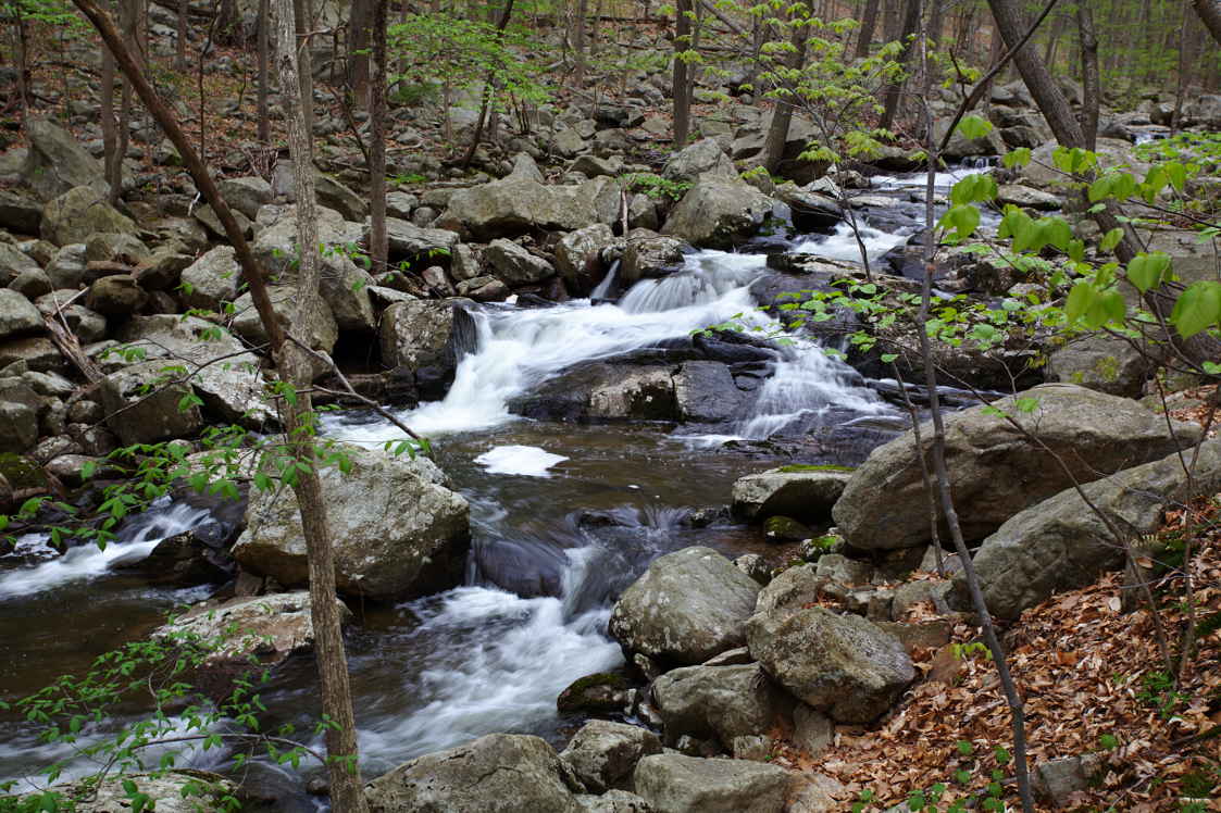
MULTIPOLYGON (((286 339, 280 319, 272 310, 271 298, 267 294, 267 284, 263 269, 250 251, 249 243, 237 225, 232 210, 216 188, 208 167, 204 166, 199 154, 190 145, 182 127, 175 120, 165 103, 161 101, 156 90, 144 77, 140 66, 127 49, 122 37, 115 28, 114 21, 106 15, 95 0, 73 0, 77 9, 89 18, 105 45, 115 56, 115 61, 123 71, 128 83, 134 85, 136 92, 144 101, 145 107, 161 126, 166 137, 177 148, 178 154, 190 172, 192 179, 203 193, 204 198, 212 206, 217 220, 225 229, 225 234, 233 245, 233 251, 242 267, 243 281, 250 289, 255 310, 267 333, 271 352, 281 371, 281 377, 288 382, 299 381, 300 370, 305 366, 302 356, 294 353, 295 345, 286 339)), ((278 0, 280 26, 281 26, 281 63, 287 63, 286 71, 295 70, 294 63, 294 33, 288 22, 292 15, 287 9, 288 0, 278 0)), ((297 182, 302 184, 297 190, 298 206, 304 206, 304 211, 298 209, 298 243, 303 247, 317 245, 316 212, 313 212, 314 190, 313 176, 308 172, 308 148, 309 136, 302 126, 302 111, 297 99, 293 99, 293 90, 298 87, 295 77, 284 77, 286 92, 284 104, 289 123, 289 145, 298 155, 294 161, 297 167, 297 182), (313 216, 311 216, 313 215, 313 216)), ((298 303, 302 309, 317 308, 317 253, 310 250, 302 251, 302 269, 299 280, 303 283, 311 283, 313 291, 303 291, 298 303)), ((308 315, 308 310, 305 311, 308 315)), ((305 536, 309 554, 310 570, 310 599, 311 621, 315 630, 315 652, 319 665, 319 679, 322 686, 322 710, 331 721, 327 728, 326 741, 327 752, 331 757, 328 762, 331 780, 332 807, 338 813, 365 813, 366 804, 361 789, 360 773, 357 763, 357 732, 354 715, 352 713, 352 693, 348 686, 348 670, 343 654, 343 637, 339 629, 338 607, 335 598, 335 563, 332 558, 328 526, 326 521, 326 503, 322 500, 321 483, 317 470, 313 465, 313 441, 308 432, 297 431, 313 426, 311 405, 308 391, 293 399, 294 403, 284 402, 284 425, 288 430, 289 452, 300 464, 297 468, 298 479, 294 491, 297 492, 298 505, 302 513, 302 527, 305 536)))

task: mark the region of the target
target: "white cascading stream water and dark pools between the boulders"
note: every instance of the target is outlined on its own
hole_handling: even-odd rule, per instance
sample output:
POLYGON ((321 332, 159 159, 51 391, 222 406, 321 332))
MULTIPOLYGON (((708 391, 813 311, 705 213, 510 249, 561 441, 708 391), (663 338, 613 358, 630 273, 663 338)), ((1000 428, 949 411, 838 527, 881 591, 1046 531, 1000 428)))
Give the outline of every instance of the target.
MULTIPOLYGON (((863 238, 875 259, 906 234, 866 227, 863 238)), ((791 248, 858 258, 846 228, 791 248)), ((437 596, 354 608, 361 623, 350 634, 349 659, 370 774, 492 731, 558 742, 579 720, 557 714, 557 695, 578 678, 621 664, 606 632, 610 605, 652 559, 689 544, 729 555, 774 551, 757 529, 717 514, 696 519, 700 509, 723 507, 739 476, 777 464, 759 441, 805 437, 812 427, 851 438, 842 427, 874 422, 893 432, 901 424, 853 370, 800 338, 780 349, 748 414, 702 435, 665 424, 546 424, 510 414, 514 397, 579 363, 733 319, 777 331, 747 291, 764 272, 761 255, 700 251, 683 270, 639 282, 618 304, 593 297, 538 309, 484 305, 473 314, 476 348, 460 361, 446 398, 399 414, 433 439, 438 464, 471 503, 468 577, 437 596)), ((612 282, 602 288, 604 294, 612 282)), ((360 413, 328 417, 325 431, 368 444, 398 437, 388 421, 360 413)), ((856 464, 884 437, 810 447, 800 459, 856 464)), ((205 597, 208 588, 148 587, 114 565, 206 520, 200 509, 161 505, 105 551, 81 547, 43 560, 51 553, 43 542, 23 540, 20 555, 0 560, 0 698, 79 670, 147 635, 171 607, 205 597)), ((309 659, 289 664, 265 697, 281 709, 280 721, 309 730, 317 714, 309 659)), ((37 750, 33 729, 0 718, 0 776, 21 775, 49 756, 37 750)))

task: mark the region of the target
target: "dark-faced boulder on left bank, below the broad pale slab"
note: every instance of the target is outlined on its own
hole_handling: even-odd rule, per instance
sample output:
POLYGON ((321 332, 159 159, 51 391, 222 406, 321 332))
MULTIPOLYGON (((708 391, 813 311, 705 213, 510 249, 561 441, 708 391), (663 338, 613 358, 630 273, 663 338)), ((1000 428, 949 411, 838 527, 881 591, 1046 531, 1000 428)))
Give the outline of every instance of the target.
POLYGON ((190 437, 204 426, 198 406, 178 409, 190 386, 166 383, 162 361, 142 361, 101 381, 106 425, 125 446, 190 437))

